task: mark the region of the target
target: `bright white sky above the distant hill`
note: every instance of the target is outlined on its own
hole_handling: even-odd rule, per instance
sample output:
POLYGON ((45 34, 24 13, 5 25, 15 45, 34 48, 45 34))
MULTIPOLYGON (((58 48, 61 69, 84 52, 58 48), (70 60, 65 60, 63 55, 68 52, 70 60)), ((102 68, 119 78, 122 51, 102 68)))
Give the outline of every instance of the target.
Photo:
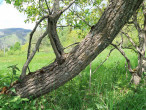
POLYGON ((0 0, 0 29, 5 28, 24 28, 33 29, 34 23, 24 23, 27 16, 20 13, 13 5, 6 4, 0 0))

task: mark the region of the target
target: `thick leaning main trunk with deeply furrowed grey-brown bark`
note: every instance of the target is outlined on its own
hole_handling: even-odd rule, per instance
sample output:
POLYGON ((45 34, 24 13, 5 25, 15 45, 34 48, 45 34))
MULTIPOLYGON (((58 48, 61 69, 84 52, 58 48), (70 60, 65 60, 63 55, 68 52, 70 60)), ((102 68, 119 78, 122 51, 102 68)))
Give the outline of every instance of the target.
POLYGON ((13 87, 21 97, 39 97, 78 75, 116 37, 143 0, 116 0, 104 11, 89 34, 66 55, 65 62, 55 61, 47 67, 25 76, 13 87))

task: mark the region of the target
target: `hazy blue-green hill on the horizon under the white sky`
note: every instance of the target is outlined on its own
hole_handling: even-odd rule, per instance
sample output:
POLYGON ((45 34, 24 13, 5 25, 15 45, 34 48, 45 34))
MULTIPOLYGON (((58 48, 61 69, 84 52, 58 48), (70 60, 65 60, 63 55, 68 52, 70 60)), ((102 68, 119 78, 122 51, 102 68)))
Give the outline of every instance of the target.
POLYGON ((7 28, 0 29, 0 48, 10 47, 16 42, 24 44, 26 42, 26 36, 31 30, 23 28, 7 28))

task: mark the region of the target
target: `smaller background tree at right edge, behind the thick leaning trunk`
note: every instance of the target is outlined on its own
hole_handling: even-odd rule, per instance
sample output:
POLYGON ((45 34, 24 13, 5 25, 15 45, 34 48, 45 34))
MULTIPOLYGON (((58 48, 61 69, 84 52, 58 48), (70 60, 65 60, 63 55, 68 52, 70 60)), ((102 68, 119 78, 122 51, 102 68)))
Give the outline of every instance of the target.
POLYGON ((146 72, 146 7, 144 2, 141 8, 134 13, 132 19, 129 21, 129 24, 125 26, 121 34, 123 34, 129 40, 129 42, 126 42, 126 44, 123 45, 124 41, 127 39, 123 39, 122 36, 119 46, 115 44, 112 45, 125 57, 128 64, 128 70, 132 75, 131 81, 137 85, 140 83, 143 73, 146 72), (136 31, 134 33, 138 33, 138 39, 136 40, 133 40, 136 35, 133 35, 133 38, 129 35, 129 32, 133 33, 133 30, 136 31), (129 45, 127 45, 127 43, 129 45), (135 69, 132 69, 131 61, 122 48, 132 49, 138 54, 138 66, 135 69))

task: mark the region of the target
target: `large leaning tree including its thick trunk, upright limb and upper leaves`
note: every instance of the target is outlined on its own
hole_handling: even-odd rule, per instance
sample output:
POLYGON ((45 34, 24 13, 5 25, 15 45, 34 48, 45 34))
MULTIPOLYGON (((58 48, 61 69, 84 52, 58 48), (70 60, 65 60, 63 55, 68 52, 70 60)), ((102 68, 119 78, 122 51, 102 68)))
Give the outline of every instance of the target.
MULTIPOLYGON (((7 0, 7 2, 10 3, 10 0, 7 0)), ((21 97, 39 97, 65 84, 89 65, 92 60, 111 44, 122 27, 139 8, 143 0, 111 0, 98 23, 91 27, 86 37, 69 53, 64 52, 60 42, 56 29, 57 22, 67 9, 72 5, 78 5, 80 1, 38 0, 36 2, 34 0, 25 0, 22 2, 20 0, 11 0, 11 2, 20 11, 24 11, 20 8, 23 4, 26 2, 27 4, 30 3, 32 6, 28 5, 27 10, 30 11, 27 11, 27 14, 31 19, 35 19, 33 17, 34 14, 39 13, 40 15, 37 17, 38 21, 30 33, 27 61, 22 68, 20 80, 12 85, 16 91, 15 95, 20 95, 21 97), (31 9, 31 7, 36 8, 31 9), (34 50, 30 52, 31 39, 37 27, 42 22, 47 23, 46 30, 39 37, 34 50), (48 66, 26 75, 28 65, 45 36, 49 36, 56 60, 48 66)), ((82 3, 87 2, 83 0, 82 3)))

